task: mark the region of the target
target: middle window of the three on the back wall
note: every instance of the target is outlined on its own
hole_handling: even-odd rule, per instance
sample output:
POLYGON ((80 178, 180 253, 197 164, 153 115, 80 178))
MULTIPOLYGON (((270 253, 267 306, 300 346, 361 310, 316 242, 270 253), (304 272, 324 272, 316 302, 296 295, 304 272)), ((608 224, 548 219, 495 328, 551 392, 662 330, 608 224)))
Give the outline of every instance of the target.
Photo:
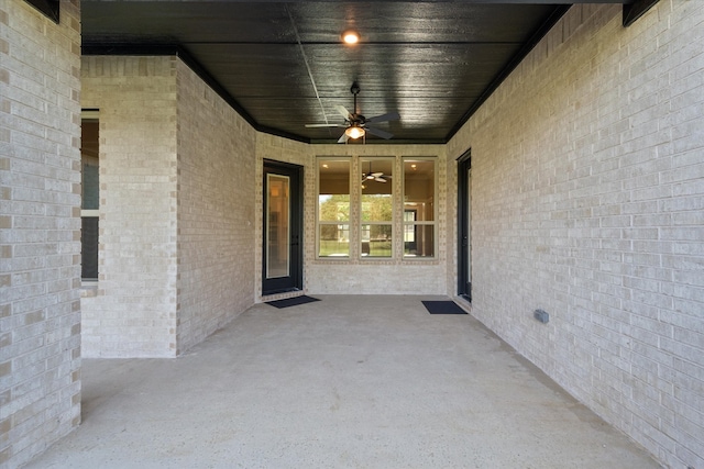
POLYGON ((363 257, 393 257, 394 254, 394 160, 360 159, 362 169, 360 253, 363 257))

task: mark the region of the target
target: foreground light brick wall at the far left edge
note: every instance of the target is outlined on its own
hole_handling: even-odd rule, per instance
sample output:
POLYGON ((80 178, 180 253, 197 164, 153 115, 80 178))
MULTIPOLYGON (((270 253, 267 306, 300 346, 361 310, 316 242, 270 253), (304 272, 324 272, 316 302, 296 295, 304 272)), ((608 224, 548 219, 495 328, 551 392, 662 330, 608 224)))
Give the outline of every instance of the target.
POLYGON ((80 422, 78 2, 0 2, 0 466, 80 422))

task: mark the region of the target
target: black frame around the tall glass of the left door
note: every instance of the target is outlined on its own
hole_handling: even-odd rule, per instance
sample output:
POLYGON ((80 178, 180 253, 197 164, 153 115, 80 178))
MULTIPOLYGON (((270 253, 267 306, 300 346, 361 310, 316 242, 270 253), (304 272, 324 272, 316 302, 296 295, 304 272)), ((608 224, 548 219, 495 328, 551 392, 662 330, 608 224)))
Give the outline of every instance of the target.
POLYGON ((304 167, 290 163, 264 159, 262 168, 262 295, 301 291, 304 289, 304 167), (279 172, 277 172, 279 171, 279 172), (267 183, 270 172, 289 176, 290 185, 290 269, 286 281, 268 281, 266 279, 266 212, 267 183))

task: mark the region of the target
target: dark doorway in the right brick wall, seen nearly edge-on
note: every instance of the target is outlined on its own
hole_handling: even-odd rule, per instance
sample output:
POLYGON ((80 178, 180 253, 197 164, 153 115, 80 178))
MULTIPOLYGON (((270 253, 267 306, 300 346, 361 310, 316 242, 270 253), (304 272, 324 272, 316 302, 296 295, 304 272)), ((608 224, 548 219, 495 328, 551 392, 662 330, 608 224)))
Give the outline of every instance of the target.
POLYGON ((458 294, 472 301, 471 154, 458 159, 458 294))

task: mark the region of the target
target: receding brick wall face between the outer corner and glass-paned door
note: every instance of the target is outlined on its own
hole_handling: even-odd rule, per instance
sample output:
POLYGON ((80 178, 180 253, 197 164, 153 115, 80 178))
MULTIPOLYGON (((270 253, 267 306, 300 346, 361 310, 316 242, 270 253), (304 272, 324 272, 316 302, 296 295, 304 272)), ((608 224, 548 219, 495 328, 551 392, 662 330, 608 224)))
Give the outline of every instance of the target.
POLYGON ((256 132, 178 62, 177 351, 254 302, 256 132))

